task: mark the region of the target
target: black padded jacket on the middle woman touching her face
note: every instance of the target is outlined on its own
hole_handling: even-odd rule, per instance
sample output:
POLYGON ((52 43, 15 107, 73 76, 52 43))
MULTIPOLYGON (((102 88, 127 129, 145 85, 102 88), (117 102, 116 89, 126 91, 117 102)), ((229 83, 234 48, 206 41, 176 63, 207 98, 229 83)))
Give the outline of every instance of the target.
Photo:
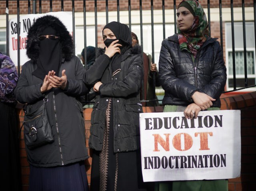
POLYGON ((114 152, 137 150, 140 146, 139 114, 142 112, 140 88, 143 78, 143 63, 140 47, 128 49, 122 56, 121 71, 112 76, 110 58, 102 54, 86 72, 85 81, 94 85, 101 81, 100 95, 96 96, 91 116, 89 146, 102 149, 105 130, 105 112, 112 98, 114 152))

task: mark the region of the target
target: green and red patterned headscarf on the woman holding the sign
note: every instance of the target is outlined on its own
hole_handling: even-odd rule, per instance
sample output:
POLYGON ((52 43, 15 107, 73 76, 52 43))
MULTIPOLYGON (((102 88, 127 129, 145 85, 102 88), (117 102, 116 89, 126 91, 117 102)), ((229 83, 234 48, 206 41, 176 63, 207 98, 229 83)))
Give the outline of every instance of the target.
POLYGON ((192 23, 191 28, 188 31, 186 31, 186 33, 181 32, 178 28, 178 39, 180 43, 180 49, 186 49, 189 52, 191 52, 194 55, 194 57, 196 57, 196 54, 200 47, 202 46, 204 40, 209 36, 208 22, 206 19, 206 15, 204 13, 204 9, 202 8, 198 1, 182 0, 178 8, 182 6, 188 8, 190 12, 191 10, 193 10, 193 12, 191 13, 194 15, 194 21, 192 23))

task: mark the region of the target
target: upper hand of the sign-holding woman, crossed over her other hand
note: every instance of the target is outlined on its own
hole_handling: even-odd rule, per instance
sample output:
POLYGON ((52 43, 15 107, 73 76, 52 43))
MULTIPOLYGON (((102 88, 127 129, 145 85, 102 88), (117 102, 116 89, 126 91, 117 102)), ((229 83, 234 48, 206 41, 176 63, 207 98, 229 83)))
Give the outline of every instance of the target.
POLYGON ((194 103, 197 104, 202 110, 210 108, 210 106, 212 106, 212 101, 216 100, 211 96, 208 96, 207 94, 198 91, 196 91, 192 95, 192 99, 194 103))

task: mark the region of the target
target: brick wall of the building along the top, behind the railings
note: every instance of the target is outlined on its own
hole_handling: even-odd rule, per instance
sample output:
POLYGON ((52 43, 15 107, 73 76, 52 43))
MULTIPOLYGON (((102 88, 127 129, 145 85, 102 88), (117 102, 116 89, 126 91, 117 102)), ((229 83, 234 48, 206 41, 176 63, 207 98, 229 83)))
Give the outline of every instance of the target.
MULTIPOLYGON (((150 10, 150 1, 151 0, 142 0, 142 9, 143 10, 150 10)), ((181 0, 176 0, 176 6, 180 3, 181 0)), ((20 14, 27 14, 28 13, 28 1, 22 0, 20 2, 20 14)), ((30 11, 33 12, 33 1, 30 1, 30 11)), ((72 11, 72 1, 71 0, 64 0, 64 11, 72 11)), ((165 9, 172 9, 173 0, 165 0, 165 9)), ((199 0, 200 4, 207 8, 208 0, 199 0)), ((82 12, 83 11, 83 1, 82 0, 75 0, 75 12, 82 12)), ((162 9, 162 0, 153 0, 154 9, 162 9)), ((253 0, 245 0, 244 5, 246 7, 253 6, 253 0)), ((242 7, 242 0, 233 0, 234 7, 242 7)), ((9 14, 16 14, 17 13, 17 1, 16 0, 9 0, 9 14)), ((128 10, 128 0, 120 0, 119 1, 119 9, 121 10, 128 10)), ((210 7, 211 8, 218 8, 219 1, 218 0, 210 0, 210 7)), ((230 0, 222 0, 222 8, 230 7, 230 0)), ((0 14, 5 14, 6 8, 6 1, 0 1, 0 14)), ((131 0, 131 10, 139 10, 140 9, 140 1, 139 0, 131 0)), ((97 11, 105 11, 106 10, 106 1, 105 0, 97 0, 97 11)), ((108 10, 109 11, 116 11, 117 4, 116 0, 108 0, 108 10)), ((52 1, 52 11, 57 12, 61 11, 61 1, 54 0, 52 1)), ((94 11, 94 0, 86 0, 86 11, 94 11)), ((36 1, 36 12, 39 13, 39 1, 36 1)), ((49 0, 42 0, 42 13, 50 12, 50 1, 49 0)))

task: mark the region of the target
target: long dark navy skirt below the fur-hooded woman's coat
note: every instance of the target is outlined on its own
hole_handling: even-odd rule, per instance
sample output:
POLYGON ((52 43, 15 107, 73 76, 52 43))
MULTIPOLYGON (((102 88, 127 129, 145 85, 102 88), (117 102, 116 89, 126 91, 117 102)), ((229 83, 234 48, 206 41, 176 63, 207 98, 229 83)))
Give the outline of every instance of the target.
POLYGON ((57 167, 30 165, 29 191, 89 191, 84 161, 57 167))

